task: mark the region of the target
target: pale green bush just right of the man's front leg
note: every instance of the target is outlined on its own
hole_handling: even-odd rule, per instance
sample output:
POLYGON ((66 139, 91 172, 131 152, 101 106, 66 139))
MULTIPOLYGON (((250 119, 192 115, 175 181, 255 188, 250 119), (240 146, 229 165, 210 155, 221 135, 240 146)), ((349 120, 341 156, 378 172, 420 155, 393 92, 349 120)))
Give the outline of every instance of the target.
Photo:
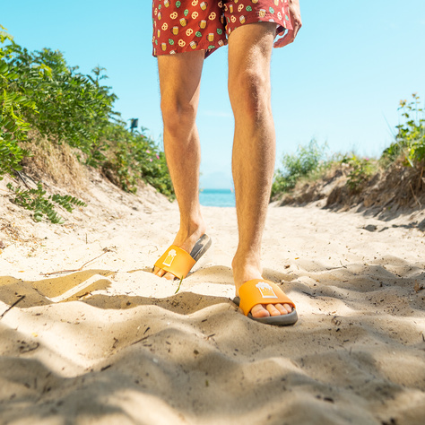
POLYGON ((295 154, 282 158, 283 169, 274 174, 272 196, 291 191, 300 178, 308 177, 324 166, 326 145, 320 146, 312 139, 308 146, 300 146, 295 154))

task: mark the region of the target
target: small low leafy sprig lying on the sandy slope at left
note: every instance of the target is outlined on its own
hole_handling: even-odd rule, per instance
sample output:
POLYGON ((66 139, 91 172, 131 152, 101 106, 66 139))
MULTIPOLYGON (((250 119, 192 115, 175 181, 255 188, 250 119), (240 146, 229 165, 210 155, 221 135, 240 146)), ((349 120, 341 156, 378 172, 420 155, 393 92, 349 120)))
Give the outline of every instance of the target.
POLYGON ((87 206, 71 195, 55 194, 46 197, 46 191, 40 182, 37 184, 37 189, 23 190, 21 187, 14 187, 10 183, 7 184, 7 188, 13 192, 13 204, 21 205, 34 212, 32 215, 34 221, 41 221, 43 216, 46 215, 48 221, 52 223, 62 224, 65 222, 63 217, 55 211, 55 205, 52 202, 62 206, 68 212, 73 212, 74 206, 87 206))

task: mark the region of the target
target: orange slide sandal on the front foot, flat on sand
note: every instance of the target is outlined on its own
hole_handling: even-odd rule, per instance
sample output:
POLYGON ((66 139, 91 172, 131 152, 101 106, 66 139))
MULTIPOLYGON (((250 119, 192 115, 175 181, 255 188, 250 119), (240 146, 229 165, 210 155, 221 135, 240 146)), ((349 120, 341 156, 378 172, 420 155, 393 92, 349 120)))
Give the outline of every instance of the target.
POLYGON ((239 288, 239 297, 235 297, 233 302, 242 309, 245 316, 256 322, 267 325, 286 326, 293 325, 298 320, 295 304, 279 286, 270 281, 253 279, 252 281, 245 282, 239 288), (256 304, 289 304, 293 309, 287 315, 253 317, 250 312, 256 304))

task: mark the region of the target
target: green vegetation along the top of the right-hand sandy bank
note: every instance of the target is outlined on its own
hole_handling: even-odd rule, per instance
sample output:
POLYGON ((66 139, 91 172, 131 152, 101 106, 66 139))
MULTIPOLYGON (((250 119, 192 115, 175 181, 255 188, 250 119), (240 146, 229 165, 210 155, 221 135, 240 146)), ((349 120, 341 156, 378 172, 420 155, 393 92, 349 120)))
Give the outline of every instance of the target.
MULTIPOLYGON (((382 153, 379 160, 360 158, 355 153, 341 156, 336 154, 325 158, 325 145, 319 146, 315 140, 307 147, 299 146, 295 154, 282 158, 282 169, 274 175, 272 197, 291 192, 300 180, 316 180, 326 169, 348 166, 346 185, 352 194, 358 194, 377 172, 379 167, 387 168, 397 160, 405 167, 422 169, 425 166, 425 119, 420 97, 412 94, 412 101, 400 102, 403 123, 396 126, 395 142, 382 153)), ((423 174, 422 172, 420 173, 423 174)))

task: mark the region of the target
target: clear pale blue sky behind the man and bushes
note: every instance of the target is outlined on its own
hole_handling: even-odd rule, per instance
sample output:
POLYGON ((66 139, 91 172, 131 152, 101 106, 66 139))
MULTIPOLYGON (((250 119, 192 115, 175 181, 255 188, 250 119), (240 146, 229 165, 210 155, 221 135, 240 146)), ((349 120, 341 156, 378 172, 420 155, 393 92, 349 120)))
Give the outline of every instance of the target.
MULTIPOLYGON (((424 0, 300 0, 303 27, 273 52, 277 161, 312 137, 332 152, 378 156, 391 143, 398 102, 425 98, 424 0), (362 6, 360 8, 360 5, 362 6)), ((0 23, 30 50, 62 51, 82 73, 107 68, 123 118, 138 117, 161 142, 150 0, 0 0, 0 23)), ((202 186, 230 186, 233 119, 227 48, 204 65, 198 128, 202 186), (213 173, 215 184, 211 183, 213 173)))

